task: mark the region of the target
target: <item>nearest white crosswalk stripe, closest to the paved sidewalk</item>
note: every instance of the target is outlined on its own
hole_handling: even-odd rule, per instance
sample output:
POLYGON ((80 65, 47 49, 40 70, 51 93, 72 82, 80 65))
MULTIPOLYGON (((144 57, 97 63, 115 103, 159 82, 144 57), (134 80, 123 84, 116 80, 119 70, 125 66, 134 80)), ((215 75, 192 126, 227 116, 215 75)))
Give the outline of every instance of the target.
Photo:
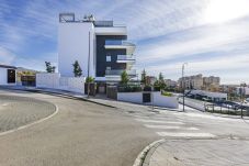
POLYGON ((211 133, 173 133, 173 132, 157 132, 160 136, 171 136, 171 137, 215 137, 211 133))

